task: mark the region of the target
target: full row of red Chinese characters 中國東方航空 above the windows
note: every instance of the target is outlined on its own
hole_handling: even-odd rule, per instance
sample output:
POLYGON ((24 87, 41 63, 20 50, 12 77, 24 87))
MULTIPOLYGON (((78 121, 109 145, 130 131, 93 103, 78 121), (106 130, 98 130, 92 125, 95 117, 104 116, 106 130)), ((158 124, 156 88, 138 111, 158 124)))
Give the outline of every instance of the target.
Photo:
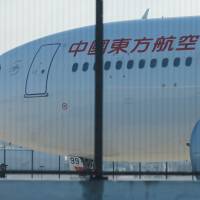
MULTIPOLYGON (((184 35, 184 36, 160 36, 158 38, 143 37, 140 39, 120 38, 103 40, 103 53, 120 54, 120 53, 145 53, 148 50, 151 52, 164 51, 188 51, 194 50, 200 35, 184 35), (133 42, 134 41, 134 42, 133 42), (129 45, 135 43, 134 48, 130 49, 129 45)), ((69 53, 76 57, 79 53, 87 55, 95 55, 95 41, 88 42, 81 40, 73 43, 69 48, 69 53)))

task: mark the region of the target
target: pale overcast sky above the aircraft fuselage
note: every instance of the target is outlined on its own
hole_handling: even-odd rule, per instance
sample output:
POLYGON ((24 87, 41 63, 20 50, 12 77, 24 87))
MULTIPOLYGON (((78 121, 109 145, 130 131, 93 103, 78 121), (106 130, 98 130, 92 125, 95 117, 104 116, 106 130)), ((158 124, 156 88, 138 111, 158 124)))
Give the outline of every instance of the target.
MULTIPOLYGON (((104 0, 104 21, 200 15, 200 0, 104 0)), ((0 54, 48 34, 95 23, 95 0, 0 0, 0 54)))

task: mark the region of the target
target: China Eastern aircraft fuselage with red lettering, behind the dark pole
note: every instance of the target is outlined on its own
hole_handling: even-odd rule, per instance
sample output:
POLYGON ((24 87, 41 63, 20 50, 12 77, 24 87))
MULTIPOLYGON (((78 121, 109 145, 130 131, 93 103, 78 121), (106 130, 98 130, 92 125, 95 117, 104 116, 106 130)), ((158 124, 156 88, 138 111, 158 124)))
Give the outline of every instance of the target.
MULTIPOLYGON (((95 27, 0 58, 0 139, 93 157, 95 27)), ((200 17, 104 25, 104 159, 189 159, 200 120, 200 17)))

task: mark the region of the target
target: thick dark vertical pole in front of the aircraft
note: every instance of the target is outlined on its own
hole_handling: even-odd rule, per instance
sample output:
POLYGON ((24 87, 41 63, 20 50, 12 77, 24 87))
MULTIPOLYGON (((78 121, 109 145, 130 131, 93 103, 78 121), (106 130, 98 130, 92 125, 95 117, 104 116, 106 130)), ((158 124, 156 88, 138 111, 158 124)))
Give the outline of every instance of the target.
POLYGON ((103 164, 103 0, 96 0, 95 54, 95 169, 94 179, 102 179, 103 164))

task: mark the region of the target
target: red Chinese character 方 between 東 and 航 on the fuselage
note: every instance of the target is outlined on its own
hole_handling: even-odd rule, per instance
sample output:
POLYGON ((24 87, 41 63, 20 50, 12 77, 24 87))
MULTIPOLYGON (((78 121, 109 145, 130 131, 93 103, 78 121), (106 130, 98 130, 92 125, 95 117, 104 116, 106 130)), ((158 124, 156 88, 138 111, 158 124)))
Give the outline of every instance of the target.
POLYGON ((144 37, 142 39, 134 40, 134 41, 136 41, 136 46, 134 47, 134 49, 131 50, 131 53, 132 52, 142 53, 142 52, 147 51, 152 40, 153 40, 152 38, 148 39, 146 37, 144 37))

